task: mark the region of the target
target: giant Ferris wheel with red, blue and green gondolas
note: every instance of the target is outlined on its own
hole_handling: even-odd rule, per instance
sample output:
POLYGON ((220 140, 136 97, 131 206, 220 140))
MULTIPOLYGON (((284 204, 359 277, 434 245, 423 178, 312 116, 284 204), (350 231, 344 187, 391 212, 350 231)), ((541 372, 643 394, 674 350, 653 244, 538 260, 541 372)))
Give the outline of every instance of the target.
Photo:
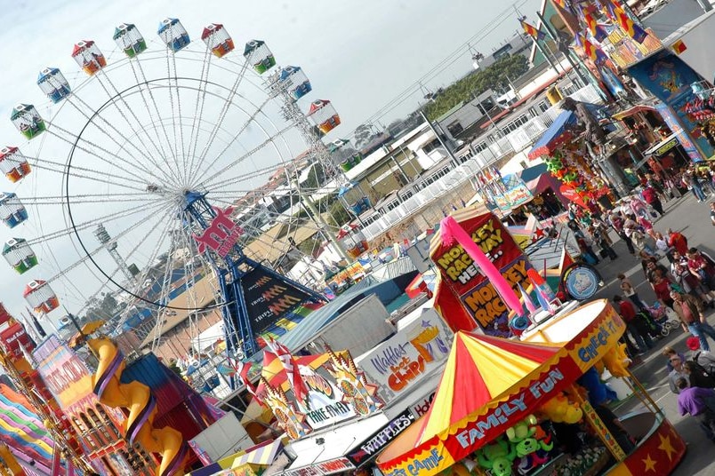
POLYGON ((43 100, 12 109, 25 141, 0 150, 4 258, 28 276, 36 313, 104 312, 111 331, 157 345, 162 322, 180 314, 198 333, 217 312, 229 350, 253 352, 237 279, 260 267, 321 298, 275 270, 323 271, 296 242, 318 246, 341 225, 325 212, 345 178, 321 140, 340 117, 301 99, 312 87, 300 67, 277 67, 260 40, 241 54, 220 24, 198 41, 176 19, 151 39, 133 24, 112 39, 76 43, 77 70, 44 68, 43 100))

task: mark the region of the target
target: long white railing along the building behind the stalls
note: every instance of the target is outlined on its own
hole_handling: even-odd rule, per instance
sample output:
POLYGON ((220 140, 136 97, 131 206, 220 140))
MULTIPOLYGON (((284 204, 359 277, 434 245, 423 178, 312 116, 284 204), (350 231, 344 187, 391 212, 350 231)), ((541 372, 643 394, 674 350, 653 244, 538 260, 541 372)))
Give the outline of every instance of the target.
MULTIPOLYGON (((592 85, 587 85, 575 91, 569 97, 592 104, 600 104, 603 102, 599 92, 592 85)), ((447 172, 443 177, 426 186, 419 192, 401 202, 396 208, 382 215, 373 223, 363 229, 363 233, 367 240, 372 240, 377 236, 387 232, 393 226, 405 218, 410 217, 417 210, 434 202, 441 196, 448 194, 461 186, 464 182, 473 178, 475 174, 484 167, 489 166, 505 155, 514 152, 518 153, 531 147, 534 142, 542 136, 543 131, 549 129, 549 126, 554 123, 558 115, 563 111, 558 107, 550 107, 537 117, 529 120, 519 126, 516 131, 512 131, 505 137, 496 140, 490 144, 485 150, 472 155, 467 161, 447 172)), ((398 198, 399 200, 399 198, 398 198)))

